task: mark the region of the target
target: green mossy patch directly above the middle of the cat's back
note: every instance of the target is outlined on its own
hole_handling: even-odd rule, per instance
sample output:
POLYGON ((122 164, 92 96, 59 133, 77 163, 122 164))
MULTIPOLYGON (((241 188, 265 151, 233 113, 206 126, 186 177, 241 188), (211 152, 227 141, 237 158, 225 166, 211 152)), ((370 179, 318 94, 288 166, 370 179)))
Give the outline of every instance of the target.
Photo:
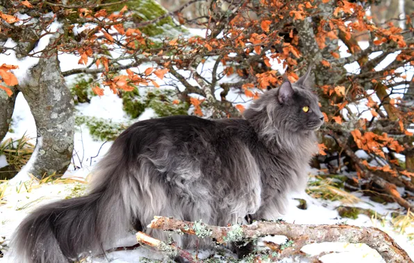
POLYGON ((174 104, 174 91, 169 89, 154 89, 141 96, 138 89, 123 93, 124 111, 131 118, 138 118, 146 108, 154 109, 158 117, 188 115, 190 105, 187 102, 174 104))

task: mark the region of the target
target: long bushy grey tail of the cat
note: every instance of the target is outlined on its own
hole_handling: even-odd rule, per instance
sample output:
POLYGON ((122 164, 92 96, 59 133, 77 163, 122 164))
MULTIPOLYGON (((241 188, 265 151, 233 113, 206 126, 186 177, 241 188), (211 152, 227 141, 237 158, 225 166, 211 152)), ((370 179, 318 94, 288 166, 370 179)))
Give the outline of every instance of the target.
POLYGON ((113 156, 101 161, 90 194, 47 204, 22 221, 12 239, 16 262, 72 262, 85 255, 81 253, 104 253, 131 226, 131 210, 114 180, 127 168, 119 165, 122 154, 113 156))

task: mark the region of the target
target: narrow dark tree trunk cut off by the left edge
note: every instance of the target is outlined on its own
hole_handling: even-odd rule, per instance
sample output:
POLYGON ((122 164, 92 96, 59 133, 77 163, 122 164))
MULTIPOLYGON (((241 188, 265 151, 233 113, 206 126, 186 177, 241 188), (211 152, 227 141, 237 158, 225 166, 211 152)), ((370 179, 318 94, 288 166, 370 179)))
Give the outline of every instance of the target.
MULTIPOLYGON (((6 86, 4 83, 1 84, 6 86)), ((13 94, 10 97, 6 94, 6 91, 3 91, 2 89, 0 90, 0 142, 7 134, 11 123, 13 109, 15 108, 17 92, 13 87, 10 87, 10 89, 13 90, 13 94)))

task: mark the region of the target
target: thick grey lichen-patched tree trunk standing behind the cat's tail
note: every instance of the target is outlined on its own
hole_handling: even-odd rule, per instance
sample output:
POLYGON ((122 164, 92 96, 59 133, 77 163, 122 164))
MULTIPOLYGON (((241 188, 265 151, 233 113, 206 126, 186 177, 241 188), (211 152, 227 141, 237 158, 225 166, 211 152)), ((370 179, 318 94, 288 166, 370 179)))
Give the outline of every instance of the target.
POLYGON ((57 53, 44 53, 28 71, 28 80, 20 90, 35 118, 38 139, 33 155, 19 174, 30 173, 37 178, 53 172, 63 174, 74 149, 74 105, 57 53))

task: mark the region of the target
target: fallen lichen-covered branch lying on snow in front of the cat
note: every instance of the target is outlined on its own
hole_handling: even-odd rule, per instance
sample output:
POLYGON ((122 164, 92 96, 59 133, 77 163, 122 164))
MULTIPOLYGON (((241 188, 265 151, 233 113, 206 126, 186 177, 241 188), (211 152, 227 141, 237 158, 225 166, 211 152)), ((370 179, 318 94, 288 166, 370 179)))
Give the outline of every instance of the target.
MULTIPOLYGON (((283 221, 256 221, 250 225, 220 227, 168 217, 154 217, 148 227, 161 230, 181 230, 183 233, 191 235, 199 235, 202 232, 201 236, 213 238, 219 244, 256 239, 266 235, 284 235, 294 242, 294 246, 290 246, 289 251, 283 251, 285 255, 299 253, 303 246, 317 242, 364 243, 378 251, 386 262, 413 262, 406 251, 399 247, 389 235, 372 227, 299 225, 283 221)), ((160 241, 158 240, 158 242, 160 241)), ((150 245, 152 246, 152 244, 150 245)), ((160 245, 155 244, 154 246, 160 245)))

